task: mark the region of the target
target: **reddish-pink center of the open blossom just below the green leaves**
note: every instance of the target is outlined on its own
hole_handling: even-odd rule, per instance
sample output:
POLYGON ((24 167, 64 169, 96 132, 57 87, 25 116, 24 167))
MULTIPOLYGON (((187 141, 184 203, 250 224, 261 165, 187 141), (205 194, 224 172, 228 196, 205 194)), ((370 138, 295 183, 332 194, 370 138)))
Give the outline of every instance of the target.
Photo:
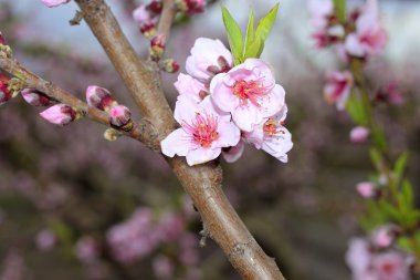
POLYGON ((255 106, 261 106, 259 98, 264 96, 270 91, 269 87, 264 86, 258 81, 238 81, 233 85, 233 94, 240 98, 241 105, 246 105, 251 102, 255 106))

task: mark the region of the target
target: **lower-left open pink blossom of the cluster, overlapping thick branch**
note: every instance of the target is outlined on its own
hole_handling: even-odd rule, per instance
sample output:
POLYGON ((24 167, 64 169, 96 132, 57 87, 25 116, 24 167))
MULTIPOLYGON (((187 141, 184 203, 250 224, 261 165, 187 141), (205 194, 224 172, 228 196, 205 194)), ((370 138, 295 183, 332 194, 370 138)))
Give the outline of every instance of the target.
POLYGON ((235 146, 240 139, 240 131, 230 114, 214 108, 209 96, 200 104, 180 96, 175 120, 181 128, 161 142, 161 149, 169 157, 186 156, 190 166, 217 158, 223 147, 235 146))

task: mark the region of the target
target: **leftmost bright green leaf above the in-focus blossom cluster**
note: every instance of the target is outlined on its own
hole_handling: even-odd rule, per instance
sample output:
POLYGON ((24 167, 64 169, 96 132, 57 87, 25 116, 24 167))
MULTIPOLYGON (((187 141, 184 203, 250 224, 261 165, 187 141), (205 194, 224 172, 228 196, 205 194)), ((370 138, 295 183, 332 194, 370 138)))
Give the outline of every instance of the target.
POLYGON ((222 18, 224 28, 228 32, 229 45, 233 55, 234 64, 241 64, 243 56, 243 38, 241 29, 224 6, 222 6, 222 18))

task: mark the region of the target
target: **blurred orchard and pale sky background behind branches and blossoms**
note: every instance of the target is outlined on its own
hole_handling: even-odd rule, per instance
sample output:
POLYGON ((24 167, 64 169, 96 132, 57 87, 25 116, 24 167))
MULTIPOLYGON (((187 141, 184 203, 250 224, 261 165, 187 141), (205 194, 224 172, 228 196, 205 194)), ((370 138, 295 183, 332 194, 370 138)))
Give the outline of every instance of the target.
MULTIPOLYGON (((217 1, 203 14, 176 24, 167 56, 185 66, 196 38, 219 38, 223 2, 245 29, 277 1, 217 1)), ((372 87, 397 82, 400 106, 379 107, 392 155, 410 151, 409 178, 420 173, 420 2, 379 1, 389 35, 384 55, 366 74, 372 87)), ((125 33, 143 56, 148 42, 130 12, 140 1, 109 0, 125 33)), ((349 1, 350 6, 358 1, 349 1)), ((322 90, 333 51, 314 49, 304 0, 281 1, 263 59, 286 90, 294 148, 282 164, 248 147, 224 168, 224 189, 251 232, 275 257, 287 279, 350 279, 344 255, 358 235, 366 180, 367 144, 348 138, 351 123, 328 106, 322 90)), ((30 70, 84 98, 88 85, 108 89, 132 108, 120 79, 84 22, 70 27, 76 6, 0 0, 0 30, 30 70)), ((177 74, 162 74, 171 106, 177 74)), ((199 248, 201 225, 166 163, 129 138, 107 142, 105 127, 82 120, 55 127, 22 98, 0 107, 0 279, 239 279, 209 240, 199 248)), ((419 188, 417 188, 419 189, 419 188)))

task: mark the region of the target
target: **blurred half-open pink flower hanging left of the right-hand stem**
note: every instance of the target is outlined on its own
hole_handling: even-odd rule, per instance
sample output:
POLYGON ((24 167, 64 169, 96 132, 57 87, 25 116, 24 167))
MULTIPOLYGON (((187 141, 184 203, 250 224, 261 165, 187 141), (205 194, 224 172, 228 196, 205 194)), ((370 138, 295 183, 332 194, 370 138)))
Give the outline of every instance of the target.
POLYGON ((344 110, 347 100, 350 96, 353 86, 353 75, 348 71, 328 72, 326 75, 326 85, 324 87, 324 96, 332 104, 336 103, 338 110, 344 110))

